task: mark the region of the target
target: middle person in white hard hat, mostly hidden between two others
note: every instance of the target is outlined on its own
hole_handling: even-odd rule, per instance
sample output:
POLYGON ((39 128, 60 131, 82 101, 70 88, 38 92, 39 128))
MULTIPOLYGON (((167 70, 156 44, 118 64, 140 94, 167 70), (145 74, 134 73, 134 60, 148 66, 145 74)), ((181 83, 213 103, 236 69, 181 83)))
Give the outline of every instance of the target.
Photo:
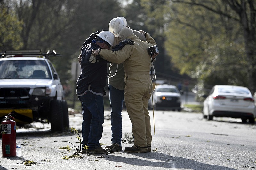
MULTIPOLYGON (((127 21, 124 17, 116 17, 111 19, 109 22, 109 31, 115 35, 114 45, 119 44, 120 31, 127 26, 127 21)), ((146 37, 143 33, 139 31, 132 30, 133 33, 139 37, 140 40, 146 41, 146 37)), ((156 57, 157 54, 152 56, 156 57)), ((156 60, 156 59, 155 59, 156 60)), ((105 148, 111 148, 111 152, 116 152, 122 150, 122 108, 124 101, 124 67, 123 63, 116 64, 111 62, 109 66, 109 78, 108 78, 108 88, 109 88, 109 100, 111 106, 111 130, 112 130, 112 144, 106 146, 105 148), (115 76, 113 76, 115 75, 115 76)), ((148 145, 148 152, 151 151, 151 146, 148 145)))

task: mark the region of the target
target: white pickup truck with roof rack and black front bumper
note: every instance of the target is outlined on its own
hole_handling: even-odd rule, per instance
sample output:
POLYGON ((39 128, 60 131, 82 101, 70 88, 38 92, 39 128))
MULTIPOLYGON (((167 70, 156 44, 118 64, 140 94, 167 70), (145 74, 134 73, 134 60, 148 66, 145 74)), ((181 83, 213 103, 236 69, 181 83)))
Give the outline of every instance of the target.
POLYGON ((51 123, 51 131, 69 128, 60 78, 48 59, 59 53, 9 50, 0 55, 0 120, 14 113, 17 125, 51 123))

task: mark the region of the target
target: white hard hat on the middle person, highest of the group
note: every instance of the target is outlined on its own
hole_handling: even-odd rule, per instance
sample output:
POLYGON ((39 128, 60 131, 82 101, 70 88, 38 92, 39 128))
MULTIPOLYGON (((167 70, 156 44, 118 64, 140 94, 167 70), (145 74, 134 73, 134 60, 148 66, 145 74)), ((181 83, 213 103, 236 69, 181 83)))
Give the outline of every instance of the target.
POLYGON ((125 28, 127 25, 127 21, 124 17, 116 17, 111 19, 109 22, 109 31, 115 35, 115 37, 119 37, 120 31, 125 28))

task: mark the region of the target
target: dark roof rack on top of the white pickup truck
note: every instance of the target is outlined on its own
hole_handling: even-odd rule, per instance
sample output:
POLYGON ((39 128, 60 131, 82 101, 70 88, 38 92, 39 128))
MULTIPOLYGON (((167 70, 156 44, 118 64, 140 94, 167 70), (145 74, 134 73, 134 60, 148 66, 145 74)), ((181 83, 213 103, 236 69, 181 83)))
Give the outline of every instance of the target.
POLYGON ((62 56, 60 53, 57 53, 55 50, 48 50, 46 53, 43 53, 41 49, 32 49, 32 50, 6 50, 5 53, 0 53, 0 58, 3 57, 45 57, 49 58, 50 56, 62 56))

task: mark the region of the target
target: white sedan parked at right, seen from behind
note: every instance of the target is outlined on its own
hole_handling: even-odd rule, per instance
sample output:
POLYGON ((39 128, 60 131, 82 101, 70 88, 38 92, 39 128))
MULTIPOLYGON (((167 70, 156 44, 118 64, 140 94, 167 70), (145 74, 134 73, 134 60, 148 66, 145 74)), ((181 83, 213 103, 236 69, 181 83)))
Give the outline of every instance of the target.
POLYGON ((215 85, 203 102, 203 116, 241 118, 242 122, 255 122, 256 110, 253 96, 246 87, 215 85))

